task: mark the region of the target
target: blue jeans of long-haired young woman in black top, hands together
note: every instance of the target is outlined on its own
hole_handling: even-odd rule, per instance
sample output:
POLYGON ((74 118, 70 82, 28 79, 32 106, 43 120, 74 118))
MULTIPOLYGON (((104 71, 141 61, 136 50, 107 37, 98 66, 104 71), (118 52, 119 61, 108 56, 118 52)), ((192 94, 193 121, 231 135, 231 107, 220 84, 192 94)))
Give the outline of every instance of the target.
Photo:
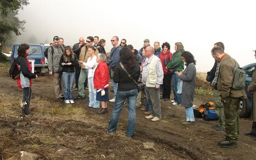
POLYGON ((63 91, 65 100, 73 99, 73 85, 75 79, 75 73, 63 72, 63 91))

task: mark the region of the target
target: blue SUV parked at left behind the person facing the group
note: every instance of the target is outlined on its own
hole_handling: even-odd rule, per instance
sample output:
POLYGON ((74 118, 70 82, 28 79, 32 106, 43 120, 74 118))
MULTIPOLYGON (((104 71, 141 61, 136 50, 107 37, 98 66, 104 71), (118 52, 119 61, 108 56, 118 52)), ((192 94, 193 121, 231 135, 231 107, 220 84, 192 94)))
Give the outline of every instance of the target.
MULTIPOLYGON (((14 44, 12 50, 12 56, 10 58, 10 63, 18 57, 18 48, 20 44, 14 44)), ((29 44, 29 56, 27 59, 32 62, 34 61, 35 64, 35 72, 44 75, 46 72, 47 64, 45 63, 46 58, 43 53, 43 46, 41 44, 29 44)))

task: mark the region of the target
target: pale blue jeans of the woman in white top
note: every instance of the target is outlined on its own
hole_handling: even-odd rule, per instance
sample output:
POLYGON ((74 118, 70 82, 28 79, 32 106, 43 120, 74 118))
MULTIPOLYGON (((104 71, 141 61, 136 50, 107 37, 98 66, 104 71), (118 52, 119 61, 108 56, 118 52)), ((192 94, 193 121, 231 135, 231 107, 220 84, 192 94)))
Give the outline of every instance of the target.
POLYGON ((99 101, 96 100, 96 89, 93 85, 93 77, 88 78, 89 89, 89 106, 93 108, 99 108, 99 101))

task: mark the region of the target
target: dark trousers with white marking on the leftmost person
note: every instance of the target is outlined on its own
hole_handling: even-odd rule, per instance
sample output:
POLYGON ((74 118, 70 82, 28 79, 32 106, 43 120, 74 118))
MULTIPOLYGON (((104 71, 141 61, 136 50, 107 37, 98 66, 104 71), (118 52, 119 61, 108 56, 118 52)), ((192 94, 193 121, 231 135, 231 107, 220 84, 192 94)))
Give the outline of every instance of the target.
POLYGON ((31 87, 22 88, 22 102, 21 108, 24 114, 29 114, 29 105, 31 98, 31 87))

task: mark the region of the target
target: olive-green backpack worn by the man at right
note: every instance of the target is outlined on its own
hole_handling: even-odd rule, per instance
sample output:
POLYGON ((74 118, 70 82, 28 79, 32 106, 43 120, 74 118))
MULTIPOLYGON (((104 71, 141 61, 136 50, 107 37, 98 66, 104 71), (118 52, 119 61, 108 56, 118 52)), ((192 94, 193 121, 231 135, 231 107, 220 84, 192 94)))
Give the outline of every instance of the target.
POLYGON ((233 90, 241 90, 246 86, 246 72, 238 67, 238 63, 235 61, 235 67, 233 68, 233 82, 232 88, 233 90))

